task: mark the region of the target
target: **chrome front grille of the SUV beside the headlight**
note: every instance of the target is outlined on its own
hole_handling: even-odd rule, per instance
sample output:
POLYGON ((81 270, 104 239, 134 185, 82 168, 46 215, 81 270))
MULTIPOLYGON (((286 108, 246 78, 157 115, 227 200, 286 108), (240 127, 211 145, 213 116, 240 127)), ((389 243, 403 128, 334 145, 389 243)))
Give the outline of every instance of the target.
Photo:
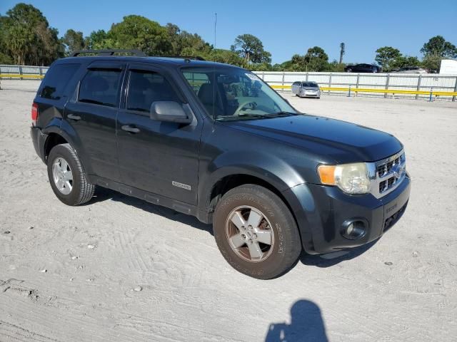
POLYGON ((401 185, 401 182, 406 177, 406 156, 405 152, 402 149, 400 152, 396 153, 395 155, 391 155, 391 157, 385 158, 383 160, 378 160, 377 162, 366 162, 366 167, 368 170, 368 177, 370 178, 370 193, 376 198, 381 198, 389 193, 393 192, 393 190, 396 190, 396 188, 401 185), (398 157, 400 157, 400 168, 401 172, 398 178, 396 178, 395 182, 391 187, 389 187, 387 190, 384 190, 383 192, 379 192, 379 184, 385 180, 388 180, 389 178, 393 177, 395 174, 395 170, 390 170, 386 175, 383 175, 381 177, 378 176, 378 167, 380 165, 387 164, 388 162, 391 162, 392 160, 396 160, 398 157))

